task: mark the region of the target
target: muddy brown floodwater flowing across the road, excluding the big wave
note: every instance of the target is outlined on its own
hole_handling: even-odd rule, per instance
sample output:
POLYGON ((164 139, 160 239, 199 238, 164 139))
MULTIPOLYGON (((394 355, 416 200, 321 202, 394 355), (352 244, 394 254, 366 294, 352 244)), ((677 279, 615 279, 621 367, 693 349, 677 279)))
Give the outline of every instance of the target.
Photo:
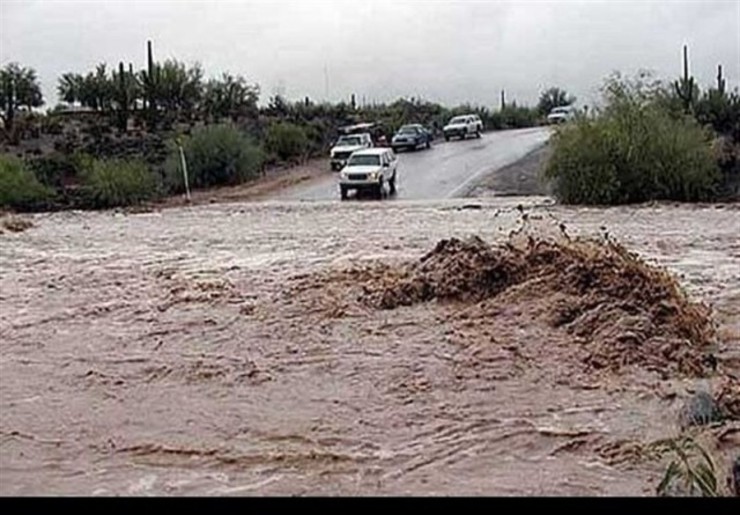
MULTIPOLYGON (((361 301, 353 270, 504 241, 520 203, 666 266, 713 308, 718 370, 740 374, 737 205, 36 215, 0 234, 0 495, 654 495, 665 463, 639 449, 677 434, 681 404, 719 376, 590 370, 536 291, 361 301)), ((740 436, 717 435, 724 472, 740 436)))

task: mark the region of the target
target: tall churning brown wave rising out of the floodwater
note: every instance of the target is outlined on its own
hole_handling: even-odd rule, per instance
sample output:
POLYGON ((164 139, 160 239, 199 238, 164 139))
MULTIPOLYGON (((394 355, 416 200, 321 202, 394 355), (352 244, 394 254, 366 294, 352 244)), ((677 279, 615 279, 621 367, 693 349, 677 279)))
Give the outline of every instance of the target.
POLYGON ((609 240, 442 240, 418 261, 371 274, 363 301, 388 310, 433 300, 512 305, 533 296, 545 323, 588 351, 589 368, 636 364, 702 376, 712 367, 709 308, 690 301, 666 270, 609 240))

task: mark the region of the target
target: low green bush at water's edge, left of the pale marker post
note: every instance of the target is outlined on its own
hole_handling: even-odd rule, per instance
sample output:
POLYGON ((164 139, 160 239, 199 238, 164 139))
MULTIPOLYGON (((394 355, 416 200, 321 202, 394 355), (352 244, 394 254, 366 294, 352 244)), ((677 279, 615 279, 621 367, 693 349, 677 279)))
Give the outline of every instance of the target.
POLYGON ((143 161, 96 160, 82 174, 89 207, 108 208, 139 204, 156 197, 159 181, 143 161))

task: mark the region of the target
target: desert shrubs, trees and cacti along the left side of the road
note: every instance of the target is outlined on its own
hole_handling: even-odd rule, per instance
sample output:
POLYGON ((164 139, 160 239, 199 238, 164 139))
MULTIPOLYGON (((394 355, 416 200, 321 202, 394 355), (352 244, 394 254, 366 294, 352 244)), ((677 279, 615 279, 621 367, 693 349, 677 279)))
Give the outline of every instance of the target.
POLYGON ((16 211, 108 208, 185 190, 179 141, 191 189, 254 180, 273 167, 325 156, 337 128, 380 122, 386 136, 407 123, 437 134, 455 115, 476 113, 487 129, 543 123, 538 107, 506 102, 446 107, 417 98, 377 104, 317 103, 281 96, 258 106, 260 88, 245 77, 207 78, 200 64, 158 62, 147 45, 147 66, 101 63, 64 73, 62 104, 41 114, 41 88, 32 68, 0 70, 0 209, 16 211), (146 171, 145 171, 146 170, 146 171))

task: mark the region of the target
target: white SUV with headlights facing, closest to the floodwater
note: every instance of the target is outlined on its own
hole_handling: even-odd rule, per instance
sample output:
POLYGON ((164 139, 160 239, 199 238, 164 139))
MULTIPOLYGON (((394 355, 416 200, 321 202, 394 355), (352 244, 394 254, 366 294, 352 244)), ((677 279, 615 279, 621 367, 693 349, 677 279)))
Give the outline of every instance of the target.
POLYGON ((389 193, 396 192, 398 157, 390 148, 358 150, 350 156, 339 173, 339 192, 342 200, 350 190, 371 191, 376 198, 382 198, 385 185, 389 193))

